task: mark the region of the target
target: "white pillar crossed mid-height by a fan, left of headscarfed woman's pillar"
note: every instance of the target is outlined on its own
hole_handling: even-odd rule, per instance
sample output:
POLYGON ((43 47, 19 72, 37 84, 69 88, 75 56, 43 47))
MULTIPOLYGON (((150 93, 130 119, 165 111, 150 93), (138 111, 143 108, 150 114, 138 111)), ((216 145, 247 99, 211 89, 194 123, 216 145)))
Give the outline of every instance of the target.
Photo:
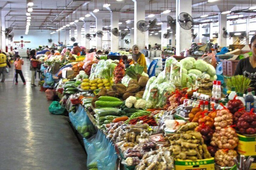
MULTIPOLYGON (((111 18, 110 18, 111 29, 114 29, 114 28, 119 29, 119 24, 118 24, 119 23, 119 15, 120 15, 120 13, 117 11, 111 12, 111 18)), ((117 52, 118 47, 119 47, 119 37, 111 34, 111 51, 117 52)))

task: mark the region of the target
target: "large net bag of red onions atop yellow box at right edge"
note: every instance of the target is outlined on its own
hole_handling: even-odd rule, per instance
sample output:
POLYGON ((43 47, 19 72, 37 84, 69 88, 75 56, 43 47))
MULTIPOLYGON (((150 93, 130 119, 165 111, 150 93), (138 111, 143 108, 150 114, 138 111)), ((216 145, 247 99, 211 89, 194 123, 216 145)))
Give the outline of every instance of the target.
POLYGON ((243 114, 238 118, 236 127, 242 134, 255 134, 256 115, 254 113, 243 112, 243 114))

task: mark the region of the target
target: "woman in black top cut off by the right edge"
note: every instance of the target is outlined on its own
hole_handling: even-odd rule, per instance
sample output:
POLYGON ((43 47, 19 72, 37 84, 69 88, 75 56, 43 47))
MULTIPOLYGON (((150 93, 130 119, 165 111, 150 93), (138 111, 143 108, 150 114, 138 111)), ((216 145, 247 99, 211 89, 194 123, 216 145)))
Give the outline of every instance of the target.
POLYGON ((252 52, 251 57, 240 60, 235 69, 235 75, 244 75, 251 79, 251 87, 256 89, 256 35, 251 38, 249 47, 252 52))

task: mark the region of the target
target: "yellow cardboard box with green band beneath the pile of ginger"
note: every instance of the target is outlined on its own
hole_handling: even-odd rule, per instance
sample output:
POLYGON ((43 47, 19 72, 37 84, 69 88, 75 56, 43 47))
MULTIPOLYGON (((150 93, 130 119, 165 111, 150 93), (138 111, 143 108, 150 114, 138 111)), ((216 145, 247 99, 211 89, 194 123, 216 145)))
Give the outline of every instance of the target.
POLYGON ((197 161, 177 159, 174 165, 177 170, 214 170, 214 158, 197 161))

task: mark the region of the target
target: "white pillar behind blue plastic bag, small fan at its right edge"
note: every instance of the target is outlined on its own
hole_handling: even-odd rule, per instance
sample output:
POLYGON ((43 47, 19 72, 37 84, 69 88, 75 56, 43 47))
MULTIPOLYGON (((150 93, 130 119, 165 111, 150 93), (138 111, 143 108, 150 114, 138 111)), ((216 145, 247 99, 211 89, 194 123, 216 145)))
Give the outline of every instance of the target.
POLYGON ((222 37, 223 27, 227 28, 227 14, 219 14, 219 47, 227 46, 227 40, 222 37))

